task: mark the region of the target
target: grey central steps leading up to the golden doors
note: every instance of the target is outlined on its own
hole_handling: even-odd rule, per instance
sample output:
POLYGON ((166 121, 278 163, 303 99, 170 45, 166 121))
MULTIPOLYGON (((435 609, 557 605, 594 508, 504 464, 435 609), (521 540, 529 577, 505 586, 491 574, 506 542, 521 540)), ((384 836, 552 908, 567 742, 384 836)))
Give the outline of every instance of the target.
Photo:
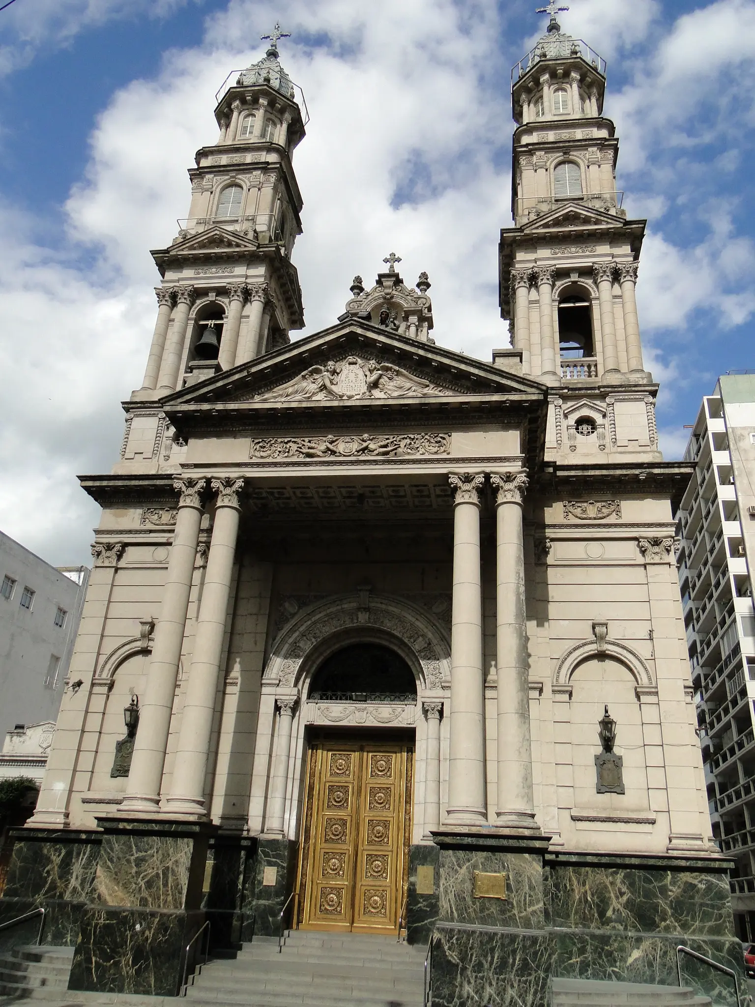
POLYGON ((396 938, 293 930, 255 938, 236 959, 193 977, 194 1004, 247 1007, 422 1007, 425 950, 396 938))

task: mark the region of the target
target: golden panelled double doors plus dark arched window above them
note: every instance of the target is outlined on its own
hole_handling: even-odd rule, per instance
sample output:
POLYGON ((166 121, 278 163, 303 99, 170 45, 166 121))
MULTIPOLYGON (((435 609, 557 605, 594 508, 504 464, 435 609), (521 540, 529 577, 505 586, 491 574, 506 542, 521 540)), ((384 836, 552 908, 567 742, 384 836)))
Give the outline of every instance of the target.
MULTIPOLYGON (((416 703, 412 669, 381 643, 323 661, 310 702, 416 703)), ((313 729, 300 859, 300 925, 396 932, 407 887, 414 731, 313 729)))

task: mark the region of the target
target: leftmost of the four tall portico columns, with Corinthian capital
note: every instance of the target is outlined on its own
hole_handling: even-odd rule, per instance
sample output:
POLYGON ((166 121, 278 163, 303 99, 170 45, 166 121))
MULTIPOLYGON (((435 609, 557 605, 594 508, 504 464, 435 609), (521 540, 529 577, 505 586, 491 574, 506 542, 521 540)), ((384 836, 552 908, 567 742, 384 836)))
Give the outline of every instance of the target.
POLYGON ((122 812, 155 813, 159 808, 205 484, 206 479, 173 483, 181 496, 122 812))

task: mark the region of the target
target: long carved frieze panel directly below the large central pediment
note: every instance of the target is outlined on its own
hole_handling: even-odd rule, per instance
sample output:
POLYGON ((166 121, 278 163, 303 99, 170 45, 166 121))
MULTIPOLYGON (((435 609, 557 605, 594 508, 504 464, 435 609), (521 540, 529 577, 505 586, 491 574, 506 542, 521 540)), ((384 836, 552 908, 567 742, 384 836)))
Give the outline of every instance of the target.
POLYGON ((451 434, 360 434, 336 437, 253 438, 250 458, 282 461, 289 458, 411 457, 451 453, 451 434))

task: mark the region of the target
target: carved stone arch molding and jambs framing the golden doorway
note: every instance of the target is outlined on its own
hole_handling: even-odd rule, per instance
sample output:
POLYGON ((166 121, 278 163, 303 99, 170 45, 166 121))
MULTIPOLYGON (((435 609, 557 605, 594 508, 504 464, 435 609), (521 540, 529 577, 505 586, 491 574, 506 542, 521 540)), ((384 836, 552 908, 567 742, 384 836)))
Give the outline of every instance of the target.
POLYGON ((295 840, 299 830, 302 777, 308 725, 332 727, 414 728, 416 731, 415 835, 424 823, 423 764, 427 723, 422 701, 448 699, 451 645, 448 630, 433 616, 404 598, 364 590, 335 595, 302 608, 281 630, 271 648, 262 680, 255 764, 250 795, 250 831, 266 834, 269 780, 276 757, 276 733, 281 704, 296 703, 288 758, 284 834, 295 840), (309 703, 312 676, 331 654, 349 643, 389 646, 407 662, 417 681, 414 704, 309 703))

